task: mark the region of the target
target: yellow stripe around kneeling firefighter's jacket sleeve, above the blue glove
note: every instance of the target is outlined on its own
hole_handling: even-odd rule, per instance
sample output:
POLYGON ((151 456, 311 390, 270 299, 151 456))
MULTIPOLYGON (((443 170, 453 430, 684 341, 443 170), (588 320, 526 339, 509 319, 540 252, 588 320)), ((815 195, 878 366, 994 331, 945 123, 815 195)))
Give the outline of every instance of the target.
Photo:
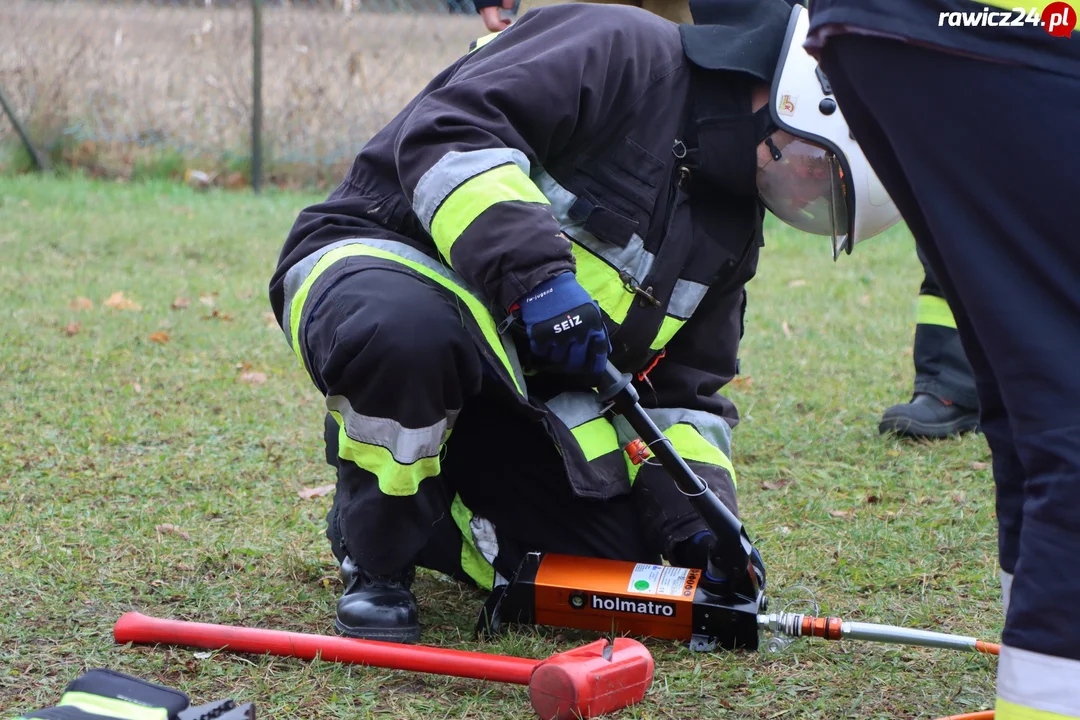
POLYGON ((491 205, 511 201, 551 204, 517 165, 492 167, 447 195, 431 219, 431 236, 451 268, 450 249, 461 233, 491 205))

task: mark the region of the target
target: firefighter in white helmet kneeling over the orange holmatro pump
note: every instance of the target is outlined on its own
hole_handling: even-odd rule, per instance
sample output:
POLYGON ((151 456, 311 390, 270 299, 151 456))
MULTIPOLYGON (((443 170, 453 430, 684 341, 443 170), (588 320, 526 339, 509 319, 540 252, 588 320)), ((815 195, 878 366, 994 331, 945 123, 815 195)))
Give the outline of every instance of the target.
POLYGON ((418 640, 417 566, 484 589, 530 551, 705 566, 689 501, 596 400, 609 358, 737 512, 718 391, 765 209, 834 249, 897 216, 801 49, 805 11, 692 9, 525 14, 300 213, 270 297, 328 408, 339 633, 418 640))

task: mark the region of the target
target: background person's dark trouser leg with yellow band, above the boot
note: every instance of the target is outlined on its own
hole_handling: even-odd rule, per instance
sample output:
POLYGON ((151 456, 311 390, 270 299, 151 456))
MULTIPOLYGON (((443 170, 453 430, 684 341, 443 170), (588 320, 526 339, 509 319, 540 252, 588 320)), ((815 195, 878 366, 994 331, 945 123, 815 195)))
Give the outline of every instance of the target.
POLYGON ((924 274, 915 315, 915 392, 961 407, 978 408, 975 377, 963 354, 956 318, 926 255, 918 247, 916 252, 924 274))

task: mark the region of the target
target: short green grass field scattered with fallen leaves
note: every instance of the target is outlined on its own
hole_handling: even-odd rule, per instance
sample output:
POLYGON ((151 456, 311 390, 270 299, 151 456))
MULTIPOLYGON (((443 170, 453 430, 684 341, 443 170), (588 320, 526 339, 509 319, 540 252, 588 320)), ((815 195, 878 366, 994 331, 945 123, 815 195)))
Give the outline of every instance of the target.
MULTIPOLYGON (((281 242, 312 195, 0 178, 0 710, 107 666, 259 717, 528 718, 523 688, 283 658, 118 647, 127 610, 332 631, 322 400, 268 320, 281 242), (117 296, 116 294, 122 294, 117 296), (81 298, 81 299, 80 299, 81 298)), ((877 435, 906 398, 920 280, 906 230, 834 263, 771 226, 730 389, 743 519, 772 608, 995 640, 993 481, 981 436, 877 435), (799 589, 805 586, 807 589, 799 589), (798 606, 794 609, 805 609, 798 606)), ((481 597, 422 574, 424 640, 472 649, 481 597)), ((542 657, 588 635, 484 650, 542 657)), ((991 707, 996 661, 799 641, 697 655, 619 718, 935 718, 991 707)))

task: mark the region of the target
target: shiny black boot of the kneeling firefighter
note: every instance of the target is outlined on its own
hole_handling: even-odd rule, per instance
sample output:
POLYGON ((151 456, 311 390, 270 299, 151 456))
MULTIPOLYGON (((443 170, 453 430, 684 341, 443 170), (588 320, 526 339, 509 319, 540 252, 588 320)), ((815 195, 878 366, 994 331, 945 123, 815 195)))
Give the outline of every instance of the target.
POLYGON ((418 642, 420 611, 413 595, 416 568, 393 575, 374 575, 352 558, 341 562, 345 595, 338 600, 334 629, 349 638, 384 642, 418 642))

